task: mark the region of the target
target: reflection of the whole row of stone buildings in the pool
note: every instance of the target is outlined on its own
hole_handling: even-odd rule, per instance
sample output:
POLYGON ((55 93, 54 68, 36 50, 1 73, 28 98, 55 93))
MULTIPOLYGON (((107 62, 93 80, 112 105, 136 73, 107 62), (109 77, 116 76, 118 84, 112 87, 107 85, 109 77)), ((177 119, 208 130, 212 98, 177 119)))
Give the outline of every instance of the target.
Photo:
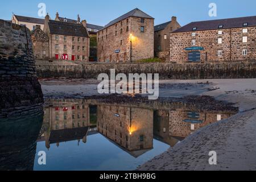
POLYGON ((137 158, 154 148, 153 139, 170 146, 210 123, 237 113, 212 101, 195 105, 183 101, 123 102, 102 99, 48 100, 44 109, 44 126, 39 140, 46 147, 77 140, 86 143, 86 136, 100 133, 106 139, 137 158), (215 107, 217 105, 218 107, 215 107), (204 110, 205 107, 205 110, 204 110), (220 108, 220 109, 216 109, 220 108))

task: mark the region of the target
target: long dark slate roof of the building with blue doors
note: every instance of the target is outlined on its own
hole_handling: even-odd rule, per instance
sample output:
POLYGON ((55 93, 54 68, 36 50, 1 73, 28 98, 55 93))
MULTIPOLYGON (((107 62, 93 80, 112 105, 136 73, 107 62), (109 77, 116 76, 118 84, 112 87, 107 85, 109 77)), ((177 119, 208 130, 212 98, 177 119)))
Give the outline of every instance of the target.
POLYGON ((242 28, 243 23, 248 23, 247 27, 256 26, 256 16, 247 16, 241 18, 229 18, 229 19, 218 19, 218 20, 207 20, 201 22, 189 23, 172 33, 176 32, 190 32, 194 27, 197 27, 196 31, 202 30, 218 30, 220 25, 223 25, 222 29, 225 28, 242 28))

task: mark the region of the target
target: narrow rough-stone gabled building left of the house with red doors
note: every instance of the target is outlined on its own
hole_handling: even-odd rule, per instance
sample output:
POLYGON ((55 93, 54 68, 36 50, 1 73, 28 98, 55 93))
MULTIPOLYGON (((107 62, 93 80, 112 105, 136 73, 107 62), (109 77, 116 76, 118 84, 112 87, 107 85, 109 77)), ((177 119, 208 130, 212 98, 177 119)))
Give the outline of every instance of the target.
POLYGON ((37 26, 36 29, 31 32, 31 39, 35 59, 49 59, 49 38, 44 31, 41 30, 40 26, 37 26))

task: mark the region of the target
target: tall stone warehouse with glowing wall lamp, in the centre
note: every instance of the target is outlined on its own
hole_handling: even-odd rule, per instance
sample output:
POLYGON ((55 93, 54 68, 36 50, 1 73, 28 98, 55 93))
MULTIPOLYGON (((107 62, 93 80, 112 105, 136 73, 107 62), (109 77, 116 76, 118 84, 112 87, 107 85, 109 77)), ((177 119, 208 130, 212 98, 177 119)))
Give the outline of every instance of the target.
POLYGON ((154 57, 154 18, 139 9, 114 19, 97 33, 98 61, 130 62, 154 57))

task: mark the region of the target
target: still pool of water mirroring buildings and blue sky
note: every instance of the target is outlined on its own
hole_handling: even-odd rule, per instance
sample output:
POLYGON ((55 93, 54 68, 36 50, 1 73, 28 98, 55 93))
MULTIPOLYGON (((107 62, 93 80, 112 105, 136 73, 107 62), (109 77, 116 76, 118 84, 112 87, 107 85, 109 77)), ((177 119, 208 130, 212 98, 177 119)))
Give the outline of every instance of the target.
POLYGON ((46 100, 42 112, 0 119, 0 169, 134 170, 237 112, 217 101, 125 101, 46 100), (40 151, 46 165, 38 163, 40 151))

